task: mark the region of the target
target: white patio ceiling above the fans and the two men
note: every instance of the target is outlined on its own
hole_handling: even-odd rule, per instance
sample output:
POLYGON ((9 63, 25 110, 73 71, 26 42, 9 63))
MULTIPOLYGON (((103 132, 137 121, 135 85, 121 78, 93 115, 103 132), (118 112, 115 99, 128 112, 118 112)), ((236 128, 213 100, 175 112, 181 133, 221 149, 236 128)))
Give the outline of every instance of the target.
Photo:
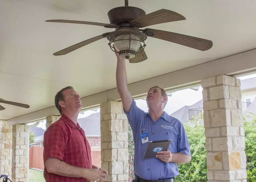
MULTIPOLYGON (((54 96, 73 86, 81 97, 115 88, 116 58, 106 39, 63 56, 52 53, 112 29, 45 22, 70 19, 109 23, 110 9, 122 0, 0 0, 0 98, 29 104, 2 104, 0 119, 11 119, 54 106, 54 96)), ((208 51, 148 38, 148 59, 127 64, 129 83, 170 73, 256 47, 256 1, 130 0, 146 13, 170 9, 187 20, 150 28, 212 40, 208 51)), ((241 60, 243 61, 243 60, 241 60)), ((177 79, 177 78, 173 78, 177 79)), ((172 80, 166 80, 171 82, 172 80)))

